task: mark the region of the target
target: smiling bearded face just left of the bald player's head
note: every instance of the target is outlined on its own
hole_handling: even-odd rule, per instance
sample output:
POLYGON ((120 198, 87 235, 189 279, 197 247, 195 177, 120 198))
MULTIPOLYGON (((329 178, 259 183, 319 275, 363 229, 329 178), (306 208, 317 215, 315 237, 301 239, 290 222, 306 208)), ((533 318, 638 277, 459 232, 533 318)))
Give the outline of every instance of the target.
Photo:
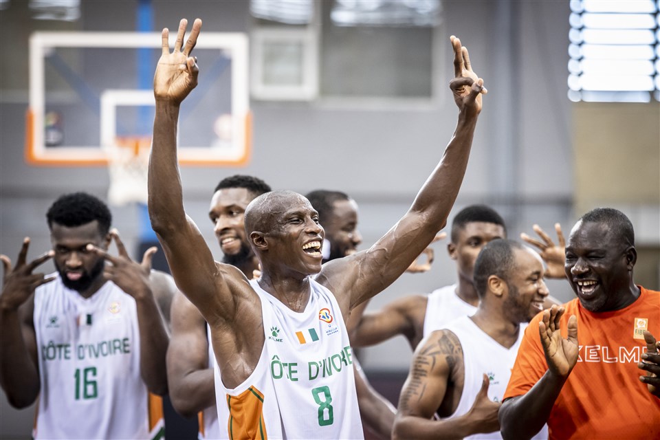
POLYGON ((223 263, 238 265, 252 257, 252 249, 245 236, 245 208, 254 199, 245 188, 222 188, 211 199, 208 217, 222 250, 223 263))

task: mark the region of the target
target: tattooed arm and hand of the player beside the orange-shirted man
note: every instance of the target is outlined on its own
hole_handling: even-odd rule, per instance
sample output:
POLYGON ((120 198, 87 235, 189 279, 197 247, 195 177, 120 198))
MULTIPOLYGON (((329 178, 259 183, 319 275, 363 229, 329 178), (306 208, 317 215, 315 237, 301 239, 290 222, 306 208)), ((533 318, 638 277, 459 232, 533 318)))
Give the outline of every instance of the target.
MULTIPOLYGON (((498 430, 500 404, 488 399, 488 377, 472 408, 452 419, 432 420, 456 377, 462 375, 463 351, 454 333, 434 331, 421 342, 401 389, 393 439, 463 439, 478 432, 498 430)), ((450 409, 448 409, 450 411, 450 409)))

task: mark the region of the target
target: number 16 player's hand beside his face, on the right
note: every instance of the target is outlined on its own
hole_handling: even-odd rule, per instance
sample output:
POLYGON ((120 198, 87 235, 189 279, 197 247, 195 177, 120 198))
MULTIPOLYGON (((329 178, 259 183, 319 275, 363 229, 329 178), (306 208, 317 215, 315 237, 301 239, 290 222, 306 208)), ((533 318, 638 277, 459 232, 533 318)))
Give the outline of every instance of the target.
POLYGON ((126 292, 126 294, 133 296, 136 300, 151 295, 149 275, 151 274, 151 260, 157 248, 155 246, 148 248, 144 252, 144 256, 142 256, 142 263, 136 263, 131 260, 129 253, 126 252, 126 247, 119 238, 119 232, 113 229, 110 235, 117 246, 118 256, 112 256, 107 251, 97 248, 92 244, 87 245, 87 250, 95 252, 98 256, 102 256, 112 263, 105 266, 103 272, 104 278, 118 285, 120 289, 126 292))

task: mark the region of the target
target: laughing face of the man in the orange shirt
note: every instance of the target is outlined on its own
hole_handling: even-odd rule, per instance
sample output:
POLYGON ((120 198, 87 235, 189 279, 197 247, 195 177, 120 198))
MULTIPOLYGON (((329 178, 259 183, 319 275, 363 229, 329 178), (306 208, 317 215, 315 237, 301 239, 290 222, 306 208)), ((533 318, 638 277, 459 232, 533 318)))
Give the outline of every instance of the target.
POLYGON ((566 244, 564 272, 582 306, 589 311, 621 308, 632 278, 635 256, 604 223, 578 221, 566 244))

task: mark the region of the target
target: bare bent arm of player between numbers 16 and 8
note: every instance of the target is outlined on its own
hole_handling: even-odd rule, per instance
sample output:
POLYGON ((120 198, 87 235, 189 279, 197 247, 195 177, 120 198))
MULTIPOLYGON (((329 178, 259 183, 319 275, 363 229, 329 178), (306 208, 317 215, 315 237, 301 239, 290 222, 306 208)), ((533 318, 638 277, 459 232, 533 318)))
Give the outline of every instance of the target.
POLYGON ((167 378, 172 405, 184 417, 215 405, 213 369, 208 366, 206 321, 182 294, 172 303, 172 339, 167 378))

